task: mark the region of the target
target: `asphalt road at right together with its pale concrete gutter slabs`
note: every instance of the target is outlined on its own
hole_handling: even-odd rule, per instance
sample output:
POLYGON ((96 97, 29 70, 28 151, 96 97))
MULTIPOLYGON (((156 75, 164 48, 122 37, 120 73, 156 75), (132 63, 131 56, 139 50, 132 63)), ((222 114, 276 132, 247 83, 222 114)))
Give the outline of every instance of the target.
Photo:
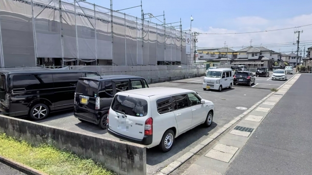
POLYGON ((309 87, 312 76, 295 75, 278 92, 255 104, 250 113, 246 111, 238 122, 233 121, 182 175, 311 173, 312 159, 306 156, 312 155, 309 87))

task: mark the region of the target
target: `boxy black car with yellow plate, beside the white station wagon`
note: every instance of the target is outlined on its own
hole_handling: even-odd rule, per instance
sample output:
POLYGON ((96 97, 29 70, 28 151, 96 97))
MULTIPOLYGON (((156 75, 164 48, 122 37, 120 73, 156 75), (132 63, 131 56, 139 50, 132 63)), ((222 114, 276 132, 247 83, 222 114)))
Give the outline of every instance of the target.
POLYGON ((106 129, 107 112, 117 92, 149 88, 145 79, 128 75, 79 78, 75 92, 74 116, 106 129))

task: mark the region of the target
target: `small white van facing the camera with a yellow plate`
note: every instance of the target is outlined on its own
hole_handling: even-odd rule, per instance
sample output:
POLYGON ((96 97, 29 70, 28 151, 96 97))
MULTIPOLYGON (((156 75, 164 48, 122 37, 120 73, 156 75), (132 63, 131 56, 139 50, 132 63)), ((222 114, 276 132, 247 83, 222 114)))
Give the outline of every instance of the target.
POLYGON ((233 71, 232 69, 213 69, 206 73, 203 82, 203 89, 215 89, 221 91, 223 88, 232 88, 233 71))

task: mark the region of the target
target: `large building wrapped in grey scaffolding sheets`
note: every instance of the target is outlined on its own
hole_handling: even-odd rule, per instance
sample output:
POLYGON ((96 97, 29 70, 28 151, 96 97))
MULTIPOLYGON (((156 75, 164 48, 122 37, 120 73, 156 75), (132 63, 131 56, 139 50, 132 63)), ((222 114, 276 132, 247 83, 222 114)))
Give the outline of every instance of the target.
POLYGON ((0 0, 0 66, 193 63, 181 23, 142 18, 80 0, 0 0))

